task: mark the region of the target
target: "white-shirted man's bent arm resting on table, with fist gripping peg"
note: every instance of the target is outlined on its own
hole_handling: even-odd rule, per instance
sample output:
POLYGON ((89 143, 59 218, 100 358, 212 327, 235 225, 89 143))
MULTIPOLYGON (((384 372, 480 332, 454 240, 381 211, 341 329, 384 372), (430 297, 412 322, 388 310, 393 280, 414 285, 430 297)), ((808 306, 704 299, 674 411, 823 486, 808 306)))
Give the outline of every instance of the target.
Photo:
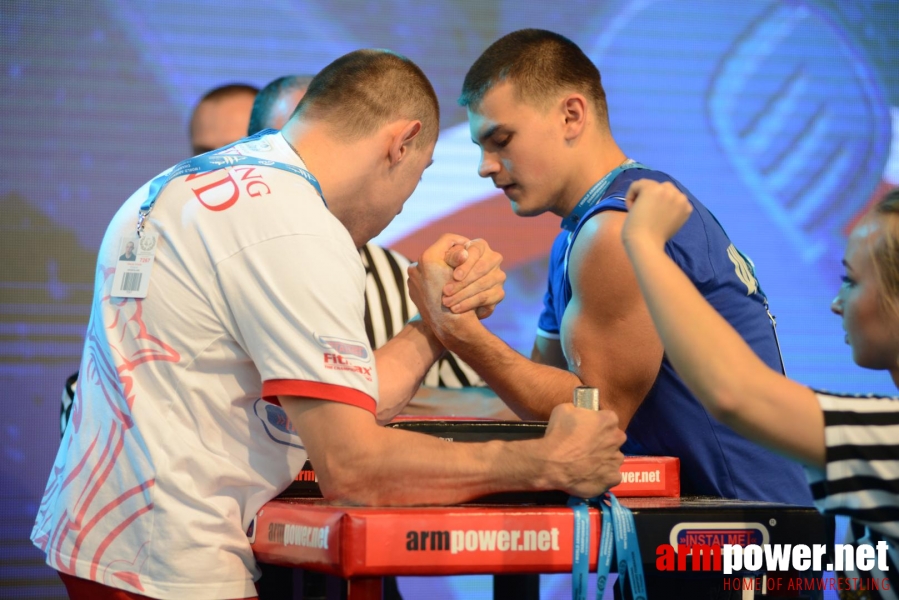
POLYGON ((499 491, 560 489, 592 497, 620 481, 624 434, 608 411, 571 405, 543 438, 452 443, 378 427, 348 404, 280 397, 325 498, 345 504, 453 504, 499 491))

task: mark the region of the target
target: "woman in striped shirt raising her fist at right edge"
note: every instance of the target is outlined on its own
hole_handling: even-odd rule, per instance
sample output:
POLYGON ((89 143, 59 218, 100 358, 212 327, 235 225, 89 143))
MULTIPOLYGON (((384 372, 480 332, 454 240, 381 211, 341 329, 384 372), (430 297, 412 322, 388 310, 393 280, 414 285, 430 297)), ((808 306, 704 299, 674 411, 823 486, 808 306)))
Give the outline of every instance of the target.
MULTIPOLYGON (((665 254, 692 210, 684 195, 642 180, 627 205, 624 245, 668 359, 721 422, 805 465, 815 505, 850 517, 856 543, 887 542, 888 569, 841 574, 886 589, 842 597, 899 598, 899 578, 885 581, 899 565, 899 402, 817 392, 771 371, 665 254)), ((899 190, 856 225, 843 264, 831 309, 853 360, 899 387, 899 190)))

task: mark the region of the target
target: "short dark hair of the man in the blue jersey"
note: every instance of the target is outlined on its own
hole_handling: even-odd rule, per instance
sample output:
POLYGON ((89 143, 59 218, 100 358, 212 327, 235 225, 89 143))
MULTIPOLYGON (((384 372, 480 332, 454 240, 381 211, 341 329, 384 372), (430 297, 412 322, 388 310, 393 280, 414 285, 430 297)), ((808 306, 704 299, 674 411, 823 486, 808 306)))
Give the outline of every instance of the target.
POLYGON ((565 36, 544 29, 521 29, 493 42, 466 73, 459 104, 477 110, 487 92, 503 81, 515 85, 520 100, 537 106, 545 106, 562 93, 582 93, 593 102, 600 124, 608 127, 599 69, 565 36))

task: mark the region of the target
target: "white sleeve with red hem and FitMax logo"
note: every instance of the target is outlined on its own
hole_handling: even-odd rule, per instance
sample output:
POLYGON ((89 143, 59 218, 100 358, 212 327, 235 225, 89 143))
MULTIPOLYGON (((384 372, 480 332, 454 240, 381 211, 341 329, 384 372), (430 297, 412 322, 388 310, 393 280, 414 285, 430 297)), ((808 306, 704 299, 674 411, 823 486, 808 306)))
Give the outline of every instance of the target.
POLYGON ((377 410, 364 273, 346 246, 325 235, 285 235, 216 265, 238 343, 259 370, 264 398, 300 396, 377 410))

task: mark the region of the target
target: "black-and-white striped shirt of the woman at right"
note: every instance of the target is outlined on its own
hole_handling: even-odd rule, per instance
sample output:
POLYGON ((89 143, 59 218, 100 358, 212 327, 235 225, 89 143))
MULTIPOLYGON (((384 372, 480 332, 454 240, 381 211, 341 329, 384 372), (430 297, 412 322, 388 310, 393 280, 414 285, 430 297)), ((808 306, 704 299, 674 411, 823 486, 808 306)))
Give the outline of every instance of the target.
MULTIPOLYGON (((815 506, 851 519, 847 543, 887 542, 889 570, 847 570, 862 582, 890 579, 889 589, 841 592, 844 598, 899 600, 899 399, 816 392, 824 412, 824 471, 806 469, 815 506)), ((854 567, 855 565, 853 565, 854 567)), ((875 565, 876 566, 876 565, 875 565)))

